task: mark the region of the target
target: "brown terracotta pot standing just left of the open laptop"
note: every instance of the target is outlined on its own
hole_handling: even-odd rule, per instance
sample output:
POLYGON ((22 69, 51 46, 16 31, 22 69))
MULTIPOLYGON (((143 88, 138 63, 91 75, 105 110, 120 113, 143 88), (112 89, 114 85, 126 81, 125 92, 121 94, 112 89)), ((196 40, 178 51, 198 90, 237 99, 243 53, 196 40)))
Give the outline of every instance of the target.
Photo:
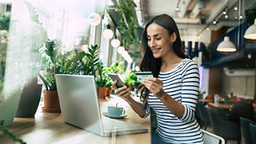
POLYGON ((56 91, 44 91, 43 113, 61 113, 58 93, 56 91))

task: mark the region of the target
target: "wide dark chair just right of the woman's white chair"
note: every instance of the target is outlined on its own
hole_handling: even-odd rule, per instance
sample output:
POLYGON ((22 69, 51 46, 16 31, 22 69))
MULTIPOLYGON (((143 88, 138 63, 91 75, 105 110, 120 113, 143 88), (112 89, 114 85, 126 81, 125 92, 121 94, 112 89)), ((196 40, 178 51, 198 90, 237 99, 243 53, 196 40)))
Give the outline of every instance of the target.
POLYGON ((208 109, 211 128, 214 134, 221 136, 225 141, 237 140, 241 141, 240 125, 228 120, 221 120, 220 117, 212 109, 208 109))

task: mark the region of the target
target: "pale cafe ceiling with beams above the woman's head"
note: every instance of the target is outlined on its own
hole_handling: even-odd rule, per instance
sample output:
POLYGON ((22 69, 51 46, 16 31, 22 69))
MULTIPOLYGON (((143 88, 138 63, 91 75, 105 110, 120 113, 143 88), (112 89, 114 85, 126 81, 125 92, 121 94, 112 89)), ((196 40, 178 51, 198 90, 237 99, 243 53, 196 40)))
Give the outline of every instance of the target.
MULTIPOLYGON (((213 30, 223 26, 237 26, 239 15, 244 19, 244 8, 253 7, 253 0, 135 0, 139 3, 141 21, 145 24, 152 17, 167 13, 173 17, 181 35, 200 35, 207 27, 213 30), (179 11, 176 8, 179 7, 179 11), (237 10, 234 10, 234 8, 237 10), (223 11, 227 11, 225 18, 223 11), (213 24, 216 20, 217 23, 213 24)), ((241 22, 241 21, 240 21, 241 22)), ((143 27, 141 25, 141 27, 143 27)))

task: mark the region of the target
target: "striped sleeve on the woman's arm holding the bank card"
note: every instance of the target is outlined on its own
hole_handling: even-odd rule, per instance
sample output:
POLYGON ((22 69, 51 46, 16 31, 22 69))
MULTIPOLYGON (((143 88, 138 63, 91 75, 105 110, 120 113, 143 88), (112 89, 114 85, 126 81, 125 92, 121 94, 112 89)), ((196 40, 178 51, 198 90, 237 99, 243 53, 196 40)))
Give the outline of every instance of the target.
POLYGON ((181 104, 184 104, 184 115, 180 120, 191 122, 195 118, 195 106, 200 84, 199 70, 195 61, 185 63, 181 75, 181 104))

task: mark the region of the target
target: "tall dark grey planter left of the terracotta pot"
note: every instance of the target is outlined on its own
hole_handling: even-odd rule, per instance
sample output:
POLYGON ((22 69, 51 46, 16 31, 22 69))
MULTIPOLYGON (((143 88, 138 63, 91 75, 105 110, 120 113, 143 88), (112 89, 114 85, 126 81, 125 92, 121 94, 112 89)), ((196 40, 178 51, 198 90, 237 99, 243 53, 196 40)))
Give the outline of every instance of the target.
POLYGON ((19 100, 19 107, 15 117, 26 118, 34 117, 38 108, 42 92, 42 85, 37 84, 37 77, 24 85, 23 93, 19 100))

